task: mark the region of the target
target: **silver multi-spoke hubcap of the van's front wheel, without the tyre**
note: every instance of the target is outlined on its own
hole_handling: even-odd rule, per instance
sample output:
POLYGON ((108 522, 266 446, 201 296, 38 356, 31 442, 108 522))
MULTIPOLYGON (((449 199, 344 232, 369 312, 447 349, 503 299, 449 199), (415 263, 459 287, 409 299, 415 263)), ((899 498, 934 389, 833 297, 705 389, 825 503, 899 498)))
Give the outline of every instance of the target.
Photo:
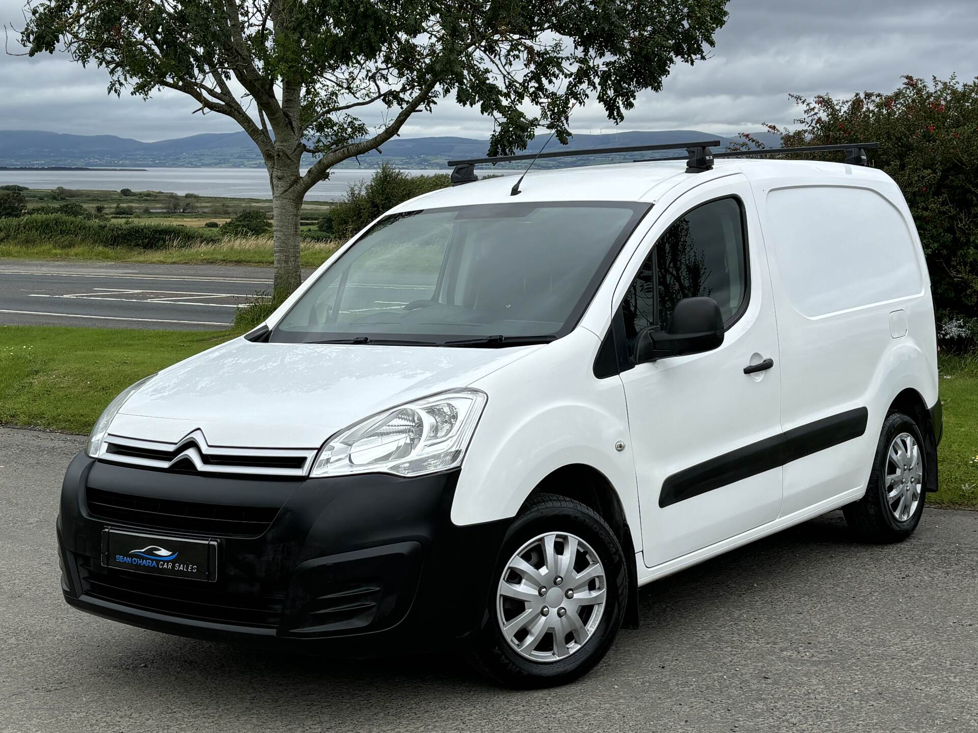
POLYGON ((534 662, 569 657, 592 637, 607 584, 598 553, 579 537, 535 537, 510 558, 499 582, 496 616, 503 635, 534 662))

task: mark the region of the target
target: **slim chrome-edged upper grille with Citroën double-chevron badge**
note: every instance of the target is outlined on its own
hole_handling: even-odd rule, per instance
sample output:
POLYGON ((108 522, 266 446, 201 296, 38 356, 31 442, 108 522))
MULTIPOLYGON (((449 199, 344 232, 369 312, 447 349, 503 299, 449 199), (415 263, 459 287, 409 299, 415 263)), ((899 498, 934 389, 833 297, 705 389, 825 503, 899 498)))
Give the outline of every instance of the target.
POLYGON ((162 470, 301 477, 315 454, 314 449, 214 447, 195 430, 175 444, 110 435, 99 458, 162 470))

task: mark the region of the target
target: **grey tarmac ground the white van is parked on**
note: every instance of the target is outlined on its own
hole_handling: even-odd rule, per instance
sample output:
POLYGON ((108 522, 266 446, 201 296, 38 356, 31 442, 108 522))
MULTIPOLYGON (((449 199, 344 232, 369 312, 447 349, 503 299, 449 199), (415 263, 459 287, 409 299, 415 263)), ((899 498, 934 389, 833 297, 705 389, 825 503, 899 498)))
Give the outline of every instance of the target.
POLYGON ((69 609, 54 523, 77 436, 0 428, 0 730, 978 729, 978 512, 928 509, 896 546, 838 513, 642 592, 587 678, 516 693, 440 657, 333 662, 69 609))

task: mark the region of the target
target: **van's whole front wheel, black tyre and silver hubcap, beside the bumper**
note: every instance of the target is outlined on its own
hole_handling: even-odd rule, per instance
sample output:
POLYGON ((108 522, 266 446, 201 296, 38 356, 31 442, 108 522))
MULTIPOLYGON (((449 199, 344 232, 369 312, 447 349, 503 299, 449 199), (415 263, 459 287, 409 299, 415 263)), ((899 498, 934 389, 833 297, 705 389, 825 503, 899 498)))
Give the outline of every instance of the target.
POLYGON ((607 653, 626 607, 628 573, 599 514, 540 495, 513 521, 491 588, 470 662, 508 687, 551 687, 587 673, 607 653))

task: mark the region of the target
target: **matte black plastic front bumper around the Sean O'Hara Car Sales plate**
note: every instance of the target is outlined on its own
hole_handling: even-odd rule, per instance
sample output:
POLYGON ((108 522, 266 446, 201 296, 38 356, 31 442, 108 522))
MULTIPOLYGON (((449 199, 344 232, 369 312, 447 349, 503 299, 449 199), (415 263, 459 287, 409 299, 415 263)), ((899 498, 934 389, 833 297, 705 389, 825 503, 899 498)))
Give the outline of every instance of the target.
POLYGON ((459 472, 262 480, 68 466, 58 518, 69 604, 208 639, 370 656, 482 625, 508 521, 452 524, 459 472), (107 528, 213 539, 212 582, 107 568, 107 528))

